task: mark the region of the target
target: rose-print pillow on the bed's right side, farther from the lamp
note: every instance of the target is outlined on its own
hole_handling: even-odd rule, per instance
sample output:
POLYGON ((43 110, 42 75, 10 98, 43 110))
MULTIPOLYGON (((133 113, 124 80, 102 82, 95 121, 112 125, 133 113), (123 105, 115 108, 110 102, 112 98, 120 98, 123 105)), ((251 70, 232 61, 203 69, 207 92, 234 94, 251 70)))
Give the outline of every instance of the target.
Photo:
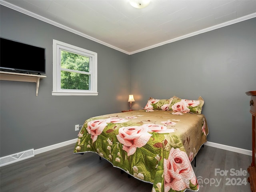
POLYGON ((200 96, 198 100, 181 99, 176 96, 172 97, 172 102, 168 110, 182 113, 201 114, 204 100, 200 96))

